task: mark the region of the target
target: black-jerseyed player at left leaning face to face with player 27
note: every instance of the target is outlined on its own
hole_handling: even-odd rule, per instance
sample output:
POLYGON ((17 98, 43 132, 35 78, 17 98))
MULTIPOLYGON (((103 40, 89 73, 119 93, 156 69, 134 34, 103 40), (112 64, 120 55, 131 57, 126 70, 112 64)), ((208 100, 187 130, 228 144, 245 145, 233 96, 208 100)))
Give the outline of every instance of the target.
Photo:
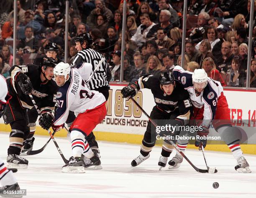
POLYGON ((42 128, 51 127, 54 120, 54 106, 58 86, 52 80, 56 61, 44 58, 41 66, 13 66, 10 69, 10 79, 7 79, 8 93, 11 96, 3 119, 10 124, 10 145, 7 163, 10 168, 27 168, 28 160, 20 157, 20 151, 29 134, 27 109, 34 107, 28 94, 41 111, 39 124, 42 128))

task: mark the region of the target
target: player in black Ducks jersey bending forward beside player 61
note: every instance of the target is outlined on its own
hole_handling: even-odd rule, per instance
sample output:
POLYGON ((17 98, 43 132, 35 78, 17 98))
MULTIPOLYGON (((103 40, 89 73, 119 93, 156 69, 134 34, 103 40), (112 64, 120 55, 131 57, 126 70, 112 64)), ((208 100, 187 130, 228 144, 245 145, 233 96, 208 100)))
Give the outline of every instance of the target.
MULTIPOLYGON (((183 126, 186 122, 185 120, 189 119, 191 108, 189 94, 178 82, 174 81, 174 76, 171 71, 163 71, 154 76, 142 76, 135 83, 131 82, 128 86, 125 86, 121 90, 121 93, 125 98, 133 97, 138 93, 138 90, 144 88, 151 89, 154 96, 156 106, 153 107, 150 117, 154 119, 157 124, 163 124, 162 121, 166 120, 167 122, 165 123, 183 126)), ((179 131, 175 133, 178 135, 179 131)), ((148 159, 149 152, 151 152, 156 143, 156 135, 156 127, 148 121, 141 144, 141 155, 131 162, 132 166, 137 166, 148 159)), ((166 166, 172 149, 172 145, 164 142, 158 164, 160 170, 162 167, 166 166)))

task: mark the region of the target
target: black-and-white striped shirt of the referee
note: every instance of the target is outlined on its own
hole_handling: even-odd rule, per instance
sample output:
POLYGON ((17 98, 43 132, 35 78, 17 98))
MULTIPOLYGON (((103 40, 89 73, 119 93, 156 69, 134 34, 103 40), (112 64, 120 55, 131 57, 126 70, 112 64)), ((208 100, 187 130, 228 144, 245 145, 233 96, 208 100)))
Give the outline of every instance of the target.
MULTIPOLYGON (((83 63, 91 63, 93 72, 102 58, 104 58, 102 54, 93 49, 87 48, 77 53, 71 67, 76 67, 79 69, 83 63)), ((92 76, 92 79, 88 83, 91 90, 100 88, 102 86, 109 86, 107 81, 107 64, 108 63, 104 58, 104 61, 101 63, 99 69, 97 69, 95 74, 92 76)), ((86 81, 87 79, 84 80, 86 81)))

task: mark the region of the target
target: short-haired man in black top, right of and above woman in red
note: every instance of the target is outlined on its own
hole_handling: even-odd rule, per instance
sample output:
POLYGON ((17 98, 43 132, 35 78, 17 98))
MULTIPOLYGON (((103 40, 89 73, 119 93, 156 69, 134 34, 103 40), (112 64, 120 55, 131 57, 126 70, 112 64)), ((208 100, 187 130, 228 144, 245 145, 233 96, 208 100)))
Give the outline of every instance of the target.
POLYGON ((221 45, 222 56, 216 60, 216 65, 218 70, 223 74, 226 74, 228 70, 231 69, 231 62, 234 55, 231 53, 231 43, 225 41, 221 45))

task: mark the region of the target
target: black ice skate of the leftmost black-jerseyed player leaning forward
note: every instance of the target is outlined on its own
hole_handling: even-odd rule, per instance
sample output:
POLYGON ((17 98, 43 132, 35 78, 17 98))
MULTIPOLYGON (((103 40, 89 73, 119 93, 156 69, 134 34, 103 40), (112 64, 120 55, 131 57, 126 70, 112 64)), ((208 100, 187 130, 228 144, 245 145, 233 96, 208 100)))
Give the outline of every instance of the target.
POLYGON ((16 154, 9 154, 7 156, 7 168, 28 168, 28 160, 26 160, 23 157, 20 157, 20 155, 16 154))

